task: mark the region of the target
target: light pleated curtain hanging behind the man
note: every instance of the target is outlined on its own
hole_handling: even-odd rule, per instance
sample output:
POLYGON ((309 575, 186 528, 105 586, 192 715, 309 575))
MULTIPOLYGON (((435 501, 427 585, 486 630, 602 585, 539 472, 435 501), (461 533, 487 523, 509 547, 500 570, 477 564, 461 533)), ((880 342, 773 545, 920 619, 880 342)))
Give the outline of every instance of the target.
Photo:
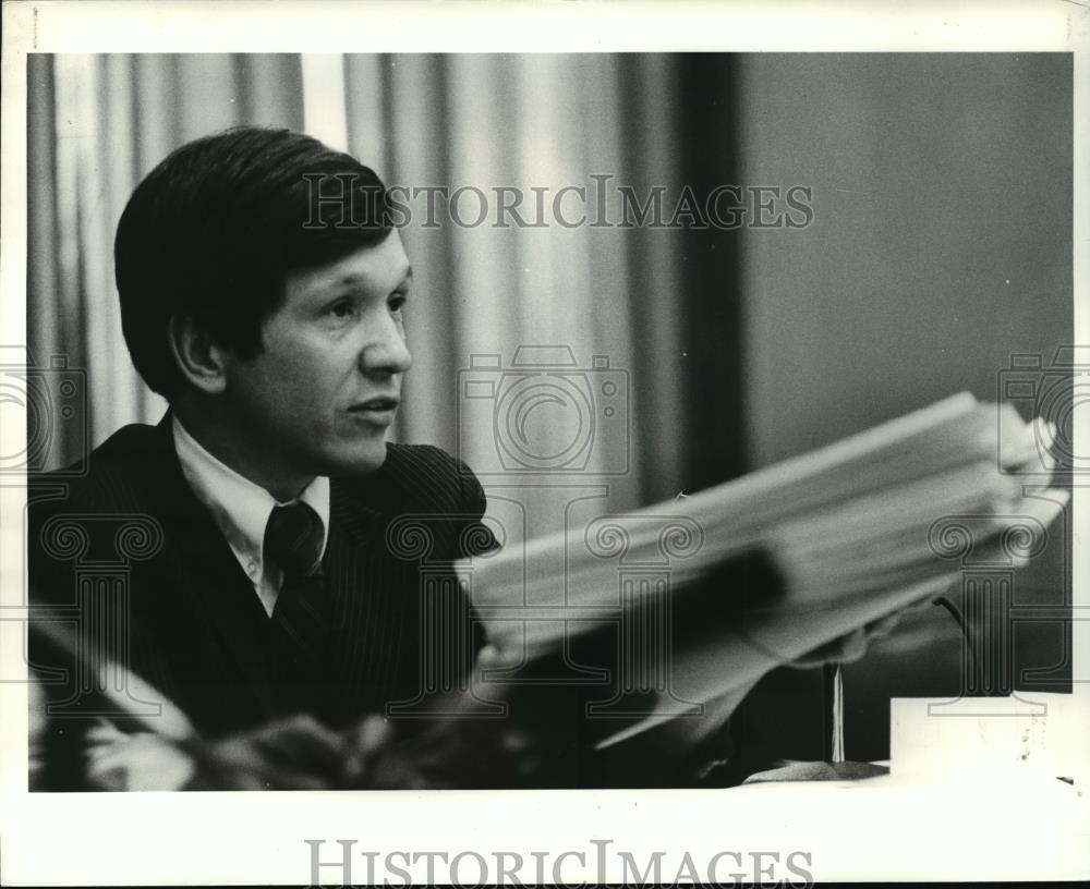
MULTIPOLYGON (((494 455, 472 451, 494 443, 470 440, 467 452, 458 429, 458 387, 473 356, 506 367, 519 346, 562 345, 592 381, 605 365, 622 372, 630 395, 623 435, 616 423, 601 427, 608 435, 595 447, 597 467, 586 467, 627 465, 609 478, 610 508, 670 496, 685 485, 692 416, 685 232, 593 219, 566 228, 550 202, 566 186, 592 193, 595 175, 639 195, 655 186, 676 194, 678 65, 619 54, 32 56, 29 348, 39 363, 65 355, 86 368, 92 443, 125 423, 157 421, 165 404, 132 369, 113 284, 113 232, 129 194, 194 137, 235 124, 305 130, 387 184, 448 194, 472 186, 488 200, 476 226, 451 224, 440 204, 434 228, 422 224, 425 203, 409 202, 414 366, 397 437, 487 464, 494 455), (528 200, 547 190, 548 224, 493 224, 498 187, 528 200)), ((470 222, 475 194, 459 202, 470 222)), ((578 217, 569 198, 565 211, 578 217)), ((533 207, 521 214, 532 219, 533 207)))

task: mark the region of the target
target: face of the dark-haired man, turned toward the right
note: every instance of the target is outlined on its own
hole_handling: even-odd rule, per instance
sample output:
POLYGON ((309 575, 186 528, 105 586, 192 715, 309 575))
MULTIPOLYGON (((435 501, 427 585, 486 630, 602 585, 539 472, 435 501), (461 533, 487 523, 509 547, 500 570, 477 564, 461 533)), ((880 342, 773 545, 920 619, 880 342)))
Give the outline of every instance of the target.
POLYGON ((230 355, 226 394, 264 473, 372 472, 412 358, 403 303, 412 270, 396 230, 327 266, 291 272, 254 358, 230 355))

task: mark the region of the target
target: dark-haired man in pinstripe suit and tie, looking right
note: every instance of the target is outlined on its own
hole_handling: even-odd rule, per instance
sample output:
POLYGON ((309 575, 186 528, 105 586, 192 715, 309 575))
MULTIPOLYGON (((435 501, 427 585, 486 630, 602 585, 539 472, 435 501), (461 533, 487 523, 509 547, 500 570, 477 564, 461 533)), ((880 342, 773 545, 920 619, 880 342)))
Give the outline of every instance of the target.
MULTIPOLYGON (((306 714, 328 741, 315 724, 411 701, 419 564, 388 528, 425 516, 431 558, 461 558, 485 500, 439 449, 386 442, 412 361, 412 268, 382 182, 298 133, 202 138, 135 190, 116 266, 133 363, 170 410, 114 434, 66 488, 37 479, 36 605, 112 625, 75 647, 145 678, 209 739, 306 714), (161 538, 156 550, 128 553, 121 598, 81 587, 88 562, 125 559, 126 521, 161 538), (87 547, 66 550, 69 533, 87 547)), ((441 607, 470 625, 463 599, 441 607)), ((472 636, 449 643, 468 669, 472 636)))

